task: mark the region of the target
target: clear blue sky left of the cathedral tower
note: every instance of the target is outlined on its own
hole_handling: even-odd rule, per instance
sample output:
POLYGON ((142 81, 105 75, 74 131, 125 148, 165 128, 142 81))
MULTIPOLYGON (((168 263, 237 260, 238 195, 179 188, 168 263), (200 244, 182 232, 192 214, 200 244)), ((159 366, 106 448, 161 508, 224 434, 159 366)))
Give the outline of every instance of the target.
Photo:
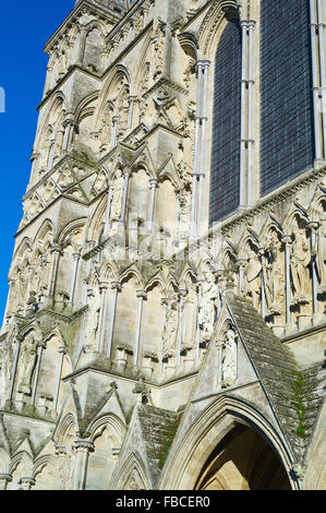
POLYGON ((14 234, 22 219, 22 196, 31 172, 38 112, 48 57, 46 41, 73 9, 74 0, 5 2, 1 10, 0 87, 5 112, 0 114, 0 324, 8 295, 14 234))

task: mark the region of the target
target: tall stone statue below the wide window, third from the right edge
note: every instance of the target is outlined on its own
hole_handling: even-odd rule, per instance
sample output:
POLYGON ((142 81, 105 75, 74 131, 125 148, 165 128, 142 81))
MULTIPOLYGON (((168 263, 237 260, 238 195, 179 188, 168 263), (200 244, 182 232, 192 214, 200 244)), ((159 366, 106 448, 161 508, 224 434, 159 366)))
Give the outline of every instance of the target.
POLYGON ((285 261, 281 254, 281 243, 275 230, 270 234, 265 285, 269 314, 280 314, 286 294, 285 261))

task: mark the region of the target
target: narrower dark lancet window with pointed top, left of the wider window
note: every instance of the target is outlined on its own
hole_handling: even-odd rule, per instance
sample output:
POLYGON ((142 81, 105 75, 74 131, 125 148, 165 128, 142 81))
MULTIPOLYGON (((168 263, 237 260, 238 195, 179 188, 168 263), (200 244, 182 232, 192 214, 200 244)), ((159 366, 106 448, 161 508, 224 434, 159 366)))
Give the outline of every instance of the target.
POLYGON ((228 21, 215 58, 210 224, 225 218, 240 201, 241 29, 228 21))

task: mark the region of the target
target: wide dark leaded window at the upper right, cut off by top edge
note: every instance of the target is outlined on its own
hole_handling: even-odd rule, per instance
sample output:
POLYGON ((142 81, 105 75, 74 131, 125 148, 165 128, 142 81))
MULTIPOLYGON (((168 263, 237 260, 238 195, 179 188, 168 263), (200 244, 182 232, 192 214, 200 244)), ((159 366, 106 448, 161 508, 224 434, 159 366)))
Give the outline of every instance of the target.
POLYGON ((261 2, 261 191, 314 159, 307 0, 261 2))

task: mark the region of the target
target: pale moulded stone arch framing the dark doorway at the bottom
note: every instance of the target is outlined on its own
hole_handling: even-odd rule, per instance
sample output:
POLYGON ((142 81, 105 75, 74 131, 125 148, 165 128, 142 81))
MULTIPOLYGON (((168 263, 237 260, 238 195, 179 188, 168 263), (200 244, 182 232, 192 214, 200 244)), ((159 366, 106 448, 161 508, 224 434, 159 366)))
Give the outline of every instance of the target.
MULTIPOLYGON (((185 411, 184 421, 186 418, 185 411)), ((274 449, 288 475, 291 488, 299 489, 298 481, 291 479, 293 456, 283 433, 277 431, 253 405, 230 395, 220 396, 190 427, 184 427, 185 434, 180 432, 184 425, 182 422, 180 434, 177 432, 164 467, 158 489, 193 490, 205 462, 237 423, 256 431, 274 449)))

